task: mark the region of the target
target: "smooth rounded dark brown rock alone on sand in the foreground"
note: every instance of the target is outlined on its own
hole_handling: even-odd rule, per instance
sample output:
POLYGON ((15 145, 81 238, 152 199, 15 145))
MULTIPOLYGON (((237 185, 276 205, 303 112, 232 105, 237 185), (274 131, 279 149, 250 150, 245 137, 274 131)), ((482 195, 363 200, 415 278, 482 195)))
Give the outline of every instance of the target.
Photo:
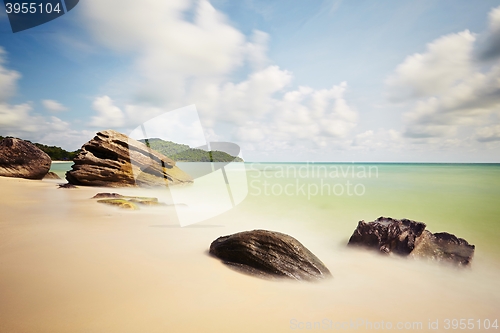
POLYGON ((266 277, 320 280, 330 271, 295 238, 273 231, 253 230, 219 237, 210 254, 239 270, 266 277))

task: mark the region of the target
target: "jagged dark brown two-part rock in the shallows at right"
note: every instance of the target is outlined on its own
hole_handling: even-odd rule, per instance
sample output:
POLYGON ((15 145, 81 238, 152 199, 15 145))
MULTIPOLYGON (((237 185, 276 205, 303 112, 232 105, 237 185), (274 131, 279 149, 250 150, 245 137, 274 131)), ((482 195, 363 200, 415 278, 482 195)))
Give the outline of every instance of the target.
POLYGON ((360 221, 348 245, 458 266, 466 266, 471 262, 474 245, 446 232, 433 234, 425 227, 422 222, 390 217, 379 217, 368 223, 360 221))

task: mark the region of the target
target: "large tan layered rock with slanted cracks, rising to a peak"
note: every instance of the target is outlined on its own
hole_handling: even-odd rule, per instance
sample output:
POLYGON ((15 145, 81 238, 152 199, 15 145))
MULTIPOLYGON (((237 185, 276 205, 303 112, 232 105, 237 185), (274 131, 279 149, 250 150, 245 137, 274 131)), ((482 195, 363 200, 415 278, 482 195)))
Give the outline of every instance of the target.
POLYGON ((113 130, 98 132, 82 146, 74 163, 66 173, 66 179, 74 185, 126 187, 193 182, 175 161, 113 130))

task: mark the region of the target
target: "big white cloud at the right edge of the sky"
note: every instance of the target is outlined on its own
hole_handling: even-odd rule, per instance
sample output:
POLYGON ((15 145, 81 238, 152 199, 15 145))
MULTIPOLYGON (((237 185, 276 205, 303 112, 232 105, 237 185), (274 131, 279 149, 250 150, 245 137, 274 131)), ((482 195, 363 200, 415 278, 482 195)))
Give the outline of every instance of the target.
MULTIPOLYGON (((497 8, 490 13, 489 38, 499 27, 497 8)), ((404 114, 404 137, 441 146, 495 138, 496 127, 477 130, 498 122, 500 115, 500 61, 485 65, 474 57, 475 41, 482 37, 469 31, 441 37, 396 68, 386 83, 390 96, 411 108, 404 114)))

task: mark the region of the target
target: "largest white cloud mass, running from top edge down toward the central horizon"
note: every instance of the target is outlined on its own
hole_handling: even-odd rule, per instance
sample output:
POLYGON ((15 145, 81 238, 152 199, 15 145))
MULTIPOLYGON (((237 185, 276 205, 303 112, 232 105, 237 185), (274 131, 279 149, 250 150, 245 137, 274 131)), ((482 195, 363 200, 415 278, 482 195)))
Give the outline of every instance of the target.
POLYGON ((267 57, 269 35, 256 30, 247 39, 206 0, 89 0, 84 6, 95 38, 135 58, 136 93, 149 102, 99 97, 92 126, 135 128, 195 104, 212 137, 232 132, 255 147, 291 147, 299 141, 326 146, 345 140, 357 124, 357 112, 344 98, 345 83, 331 89, 291 88, 292 73, 267 57), (110 11, 115 14, 107 15, 110 11), (192 21, 184 18, 189 11, 194 11, 192 21), (238 69, 250 70, 246 79, 230 80, 238 69), (224 133, 216 133, 221 124, 224 133))

